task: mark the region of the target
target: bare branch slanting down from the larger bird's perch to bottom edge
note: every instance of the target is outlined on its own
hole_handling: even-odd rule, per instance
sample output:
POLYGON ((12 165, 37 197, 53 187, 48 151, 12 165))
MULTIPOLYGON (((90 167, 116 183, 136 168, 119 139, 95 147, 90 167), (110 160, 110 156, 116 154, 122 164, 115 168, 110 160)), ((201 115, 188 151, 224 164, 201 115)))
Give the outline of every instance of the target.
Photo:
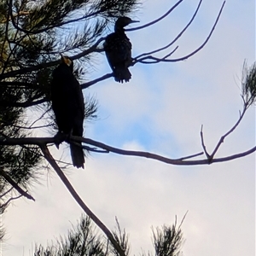
POLYGON ((47 148, 47 146, 44 143, 41 143, 40 148, 44 154, 45 159, 48 160, 49 164, 54 168, 55 172, 61 178, 61 181, 66 186, 67 190, 73 196, 73 199, 79 204, 79 206, 84 210, 84 212, 95 222, 95 224, 105 233, 105 235, 108 237, 109 241, 112 242, 113 247, 119 252, 119 254, 121 256, 125 256, 123 248, 121 248, 119 246, 119 243, 117 243, 114 240, 110 230, 108 230, 108 228, 102 223, 102 221, 99 218, 97 218, 93 212, 90 211, 90 208, 84 204, 84 201, 80 198, 75 189, 73 189, 72 184, 68 181, 65 174, 61 171, 61 168, 56 164, 54 158, 49 153, 49 149, 47 148))

